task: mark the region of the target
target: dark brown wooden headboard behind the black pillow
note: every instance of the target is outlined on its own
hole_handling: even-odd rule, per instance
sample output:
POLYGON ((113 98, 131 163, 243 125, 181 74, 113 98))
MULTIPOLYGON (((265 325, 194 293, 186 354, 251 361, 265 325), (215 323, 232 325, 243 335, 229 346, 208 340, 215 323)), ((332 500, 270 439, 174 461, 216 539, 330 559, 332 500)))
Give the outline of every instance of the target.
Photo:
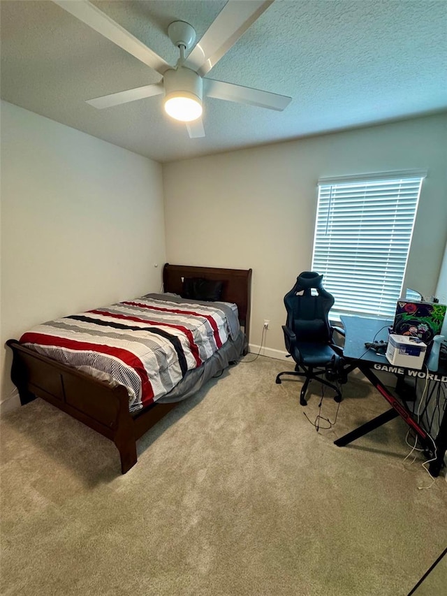
POLYGON ((251 269, 221 269, 216 267, 194 267, 189 265, 170 265, 163 267, 163 289, 166 292, 182 293, 184 277, 202 277, 223 283, 223 302, 237 304, 239 321, 244 327, 249 340, 251 269))

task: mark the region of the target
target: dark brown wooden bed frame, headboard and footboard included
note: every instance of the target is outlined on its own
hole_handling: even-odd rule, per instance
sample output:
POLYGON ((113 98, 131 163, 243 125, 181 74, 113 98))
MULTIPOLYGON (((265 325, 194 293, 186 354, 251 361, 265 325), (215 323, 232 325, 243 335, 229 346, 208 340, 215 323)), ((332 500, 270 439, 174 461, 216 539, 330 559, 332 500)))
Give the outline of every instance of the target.
MULTIPOLYGON (((163 268, 164 291, 180 293, 184 277, 223 281, 221 300, 237 304, 240 324, 249 339, 251 269, 166 263, 163 268)), ((17 386, 21 404, 42 398, 112 440, 119 451, 122 474, 137 462, 136 440, 178 403, 155 402, 131 414, 129 395, 124 386, 112 387, 106 381, 41 356, 17 340, 8 340, 6 344, 13 350, 11 379, 17 386)))

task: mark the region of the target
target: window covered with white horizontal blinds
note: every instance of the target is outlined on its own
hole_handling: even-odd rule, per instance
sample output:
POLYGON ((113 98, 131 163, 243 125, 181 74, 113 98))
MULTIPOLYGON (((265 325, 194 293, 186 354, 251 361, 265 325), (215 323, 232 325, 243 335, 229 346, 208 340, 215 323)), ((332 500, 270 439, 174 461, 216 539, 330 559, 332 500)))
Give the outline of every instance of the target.
POLYGON ((318 181, 312 270, 332 312, 394 317, 426 173, 318 181))

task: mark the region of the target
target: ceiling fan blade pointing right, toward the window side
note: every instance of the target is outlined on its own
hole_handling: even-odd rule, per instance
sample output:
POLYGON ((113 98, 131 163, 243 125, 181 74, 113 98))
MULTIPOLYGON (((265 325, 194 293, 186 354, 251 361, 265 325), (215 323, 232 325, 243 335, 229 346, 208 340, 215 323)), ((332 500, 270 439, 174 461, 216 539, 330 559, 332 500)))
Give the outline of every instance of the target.
POLYGON ((292 101, 292 98, 286 95, 251 89, 251 87, 242 87, 242 85, 234 85, 231 82, 203 79, 203 85, 205 94, 208 97, 248 103, 250 106, 269 108, 270 110, 277 110, 277 112, 282 112, 292 101))

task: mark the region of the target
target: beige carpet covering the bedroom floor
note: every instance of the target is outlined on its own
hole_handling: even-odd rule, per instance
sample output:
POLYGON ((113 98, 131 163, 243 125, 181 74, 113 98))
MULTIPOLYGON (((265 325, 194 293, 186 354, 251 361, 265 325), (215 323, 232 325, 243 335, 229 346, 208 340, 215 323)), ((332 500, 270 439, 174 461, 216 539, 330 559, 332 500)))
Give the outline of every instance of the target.
POLYGON ((406 596, 446 546, 444 472, 418 488, 400 419, 335 446, 385 400, 353 379, 317 433, 320 386, 300 407, 300 381, 274 383, 287 368, 260 356, 213 379, 124 476, 111 442, 42 400, 6 414, 1 594, 406 596))

